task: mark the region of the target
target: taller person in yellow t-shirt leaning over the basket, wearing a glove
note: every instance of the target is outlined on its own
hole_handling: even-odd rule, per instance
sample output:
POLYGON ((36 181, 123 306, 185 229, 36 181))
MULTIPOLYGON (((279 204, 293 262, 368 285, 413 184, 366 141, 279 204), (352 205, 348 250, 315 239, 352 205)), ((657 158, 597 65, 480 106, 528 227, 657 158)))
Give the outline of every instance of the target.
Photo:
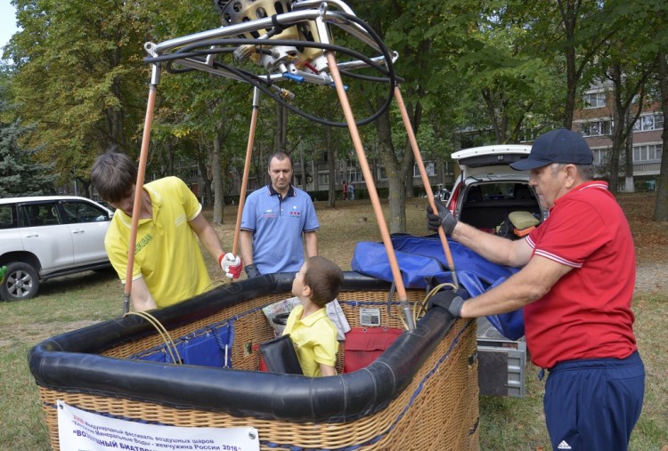
MULTIPOLYGON (((95 161, 91 175, 100 196, 117 209, 104 246, 125 284, 136 165, 125 154, 108 152, 95 161)), ((216 230, 183 181, 166 177, 145 184, 141 203, 130 293, 134 310, 167 307, 211 287, 197 238, 228 278, 239 277, 240 258, 224 254, 216 230)))

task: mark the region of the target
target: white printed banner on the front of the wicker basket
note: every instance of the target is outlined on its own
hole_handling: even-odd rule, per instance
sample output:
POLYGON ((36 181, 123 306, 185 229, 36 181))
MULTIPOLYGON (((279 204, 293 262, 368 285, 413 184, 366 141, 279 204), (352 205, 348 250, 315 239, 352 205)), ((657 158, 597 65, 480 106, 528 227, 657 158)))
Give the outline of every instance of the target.
POLYGON ((134 423, 91 414, 58 400, 58 432, 67 451, 259 451, 257 429, 183 428, 134 423))

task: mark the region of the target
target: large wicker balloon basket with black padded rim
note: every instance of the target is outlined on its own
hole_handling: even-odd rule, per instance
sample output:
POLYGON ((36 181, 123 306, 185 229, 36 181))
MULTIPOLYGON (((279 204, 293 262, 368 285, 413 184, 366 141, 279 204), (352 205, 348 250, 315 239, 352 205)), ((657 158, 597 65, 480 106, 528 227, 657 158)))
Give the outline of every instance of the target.
MULTIPOLYGON (((281 377, 289 378, 290 382, 295 380, 304 383, 309 383, 309 380, 313 382, 311 378, 304 376, 261 374, 255 371, 259 364, 259 355, 257 351, 252 350, 252 344, 265 342, 273 337, 273 330, 261 308, 290 295, 285 289, 289 280, 281 282, 280 277, 274 278, 274 276, 281 275, 265 277, 272 279, 266 284, 271 286, 272 293, 258 294, 257 286, 255 286, 257 282, 254 284, 254 289, 248 289, 252 281, 241 282, 236 284, 236 288, 223 287, 203 295, 201 299, 195 298, 180 304, 177 310, 181 313, 175 311, 169 314, 167 310, 170 309, 166 309, 157 312, 156 316, 167 326, 172 337, 192 337, 199 334, 200 331, 207 330, 211 324, 234 318, 234 345, 231 353, 234 369, 207 368, 209 373, 216 372, 225 374, 225 376, 237 373, 241 374, 240 377, 244 379, 255 377, 257 381, 266 380, 268 384, 280 380, 281 377), (243 286, 243 284, 247 285, 243 286), (252 292, 252 299, 240 302, 239 287, 246 288, 242 292, 252 292), (224 302, 224 299, 221 300, 221 298, 233 299, 230 302, 224 302), (212 300, 217 301, 212 302, 212 300), (221 303, 223 307, 219 308, 216 303, 221 303), (183 322, 184 311, 189 312, 186 322, 183 322), (193 314, 192 311, 198 313, 193 314), (164 315, 161 315, 163 313, 164 315)), ((359 275, 346 273, 345 291, 339 295, 338 299, 351 326, 359 325, 359 309, 371 306, 379 307, 382 326, 401 326, 398 319, 400 315, 398 305, 390 302, 389 313, 386 310, 387 296, 388 290, 384 283, 379 285, 375 279, 366 280, 359 275)), ((419 302, 424 293, 410 291, 409 296, 411 302, 419 302)), ((444 325, 443 318, 448 317, 446 313, 443 313, 438 319, 438 324, 444 325)), ((404 343, 409 345, 412 340, 422 340, 424 343, 430 340, 435 341, 424 344, 429 350, 428 353, 425 352, 424 356, 411 356, 408 359, 410 361, 393 360, 392 355, 387 356, 388 362, 398 361, 397 366, 402 366, 401 362, 403 362, 405 367, 396 370, 396 380, 393 381, 395 387, 387 389, 389 395, 386 399, 376 400, 374 406, 365 407, 362 413, 346 411, 326 418, 315 415, 313 421, 308 421, 308 418, 303 416, 288 418, 280 412, 258 412, 258 415, 248 415, 248 412, 245 412, 246 415, 240 415, 239 409, 235 410, 234 407, 202 406, 201 402, 195 402, 189 406, 183 402, 183 399, 169 399, 170 393, 142 396, 141 393, 124 391, 126 384, 123 381, 118 381, 118 386, 111 384, 113 386, 107 388, 100 384, 96 385, 92 381, 98 379, 99 374, 86 374, 86 353, 94 355, 95 367, 98 367, 100 362, 106 362, 108 366, 115 366, 127 363, 130 356, 152 348, 159 348, 163 344, 159 334, 152 333, 151 327, 146 326, 138 318, 108 321, 40 343, 31 351, 30 366, 40 385, 40 396, 53 449, 59 449, 58 418, 55 406, 56 401, 60 399, 70 406, 93 413, 143 423, 219 428, 252 426, 259 432, 260 447, 263 450, 477 450, 476 323, 475 321, 450 319, 449 324, 452 327, 436 342, 428 336, 431 329, 435 328, 433 326, 435 319, 427 317, 420 319, 416 334, 407 336, 407 341, 404 343), (425 326, 424 321, 432 322, 425 326), (115 326, 121 327, 125 332, 118 334, 117 331, 115 334, 109 334, 110 330, 115 330, 115 326), (423 329, 427 331, 424 334, 423 329), (83 350, 85 354, 83 357, 81 349, 73 349, 73 343, 76 342, 79 343, 78 347, 81 347, 82 338, 111 335, 115 338, 107 339, 108 343, 104 344, 95 344, 88 340, 87 350, 83 350), (57 346, 54 346, 54 343, 57 343, 57 346), (57 359, 61 362, 63 350, 65 353, 71 352, 72 358, 84 358, 84 360, 78 363, 74 361, 71 365, 65 365, 64 368, 60 363, 62 374, 59 375, 57 374, 58 368, 54 369, 50 361, 52 354, 56 353, 58 354, 57 359), (414 362, 418 362, 419 365, 411 367, 414 362), (73 367, 77 367, 77 371, 72 372, 73 367), (72 380, 72 374, 77 374, 80 380, 72 380)), ((339 373, 345 358, 344 348, 345 345, 341 346, 339 351, 339 373)), ((397 349, 393 345, 379 360, 386 358, 386 354, 392 354, 397 349)), ((156 367, 151 363, 136 361, 132 363, 135 366, 156 367)), ((377 363, 374 362, 369 368, 376 365, 377 363)), ((381 366, 380 363, 378 365, 381 366)), ((165 369, 164 366, 160 368, 165 369)), ((175 368, 175 371, 189 369, 198 370, 198 368, 181 366, 175 368)), ((372 372, 372 370, 373 368, 369 371, 372 372)), ((346 378, 352 378, 351 380, 355 381, 355 378, 366 376, 366 373, 364 369, 351 374, 340 374, 334 378, 322 379, 340 379, 346 382, 346 378), (356 373, 364 374, 355 375, 356 373)), ((324 383, 324 381, 316 382, 324 383)), ((158 382, 156 384, 161 385, 158 382)), ((261 385, 262 383, 258 387, 261 385)), ((218 387, 212 386, 211 388, 209 394, 212 397, 216 397, 216 388, 218 387)), ((222 398, 224 399, 224 396, 222 398)))

